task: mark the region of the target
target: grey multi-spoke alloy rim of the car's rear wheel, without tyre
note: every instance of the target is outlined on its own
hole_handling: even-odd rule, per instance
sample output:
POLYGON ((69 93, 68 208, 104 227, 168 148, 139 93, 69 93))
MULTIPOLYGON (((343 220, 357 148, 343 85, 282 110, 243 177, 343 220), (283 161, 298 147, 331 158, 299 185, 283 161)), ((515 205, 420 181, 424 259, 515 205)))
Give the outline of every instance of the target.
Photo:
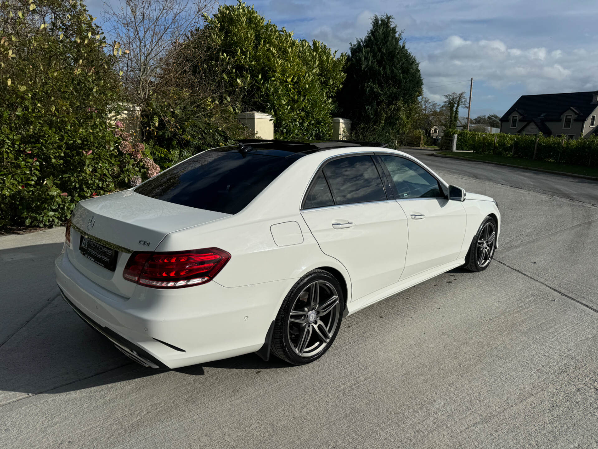
POLYGON ((327 281, 313 281, 297 296, 288 317, 287 336, 300 357, 313 357, 328 346, 340 317, 338 292, 327 281))

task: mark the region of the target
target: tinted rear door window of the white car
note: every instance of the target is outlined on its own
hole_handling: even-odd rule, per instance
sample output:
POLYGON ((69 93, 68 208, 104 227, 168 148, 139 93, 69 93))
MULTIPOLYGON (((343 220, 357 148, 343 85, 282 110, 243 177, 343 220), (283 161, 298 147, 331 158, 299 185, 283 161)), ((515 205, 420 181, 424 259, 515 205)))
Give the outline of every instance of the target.
POLYGON ((335 159, 324 167, 335 204, 381 201, 384 187, 371 156, 335 159))

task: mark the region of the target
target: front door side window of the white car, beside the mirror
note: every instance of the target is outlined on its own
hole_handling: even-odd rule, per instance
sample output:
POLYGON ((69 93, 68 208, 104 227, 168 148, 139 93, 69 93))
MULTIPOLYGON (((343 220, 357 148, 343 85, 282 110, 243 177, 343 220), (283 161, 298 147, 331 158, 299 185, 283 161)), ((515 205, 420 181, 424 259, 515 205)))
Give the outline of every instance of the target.
POLYGON ((435 177, 411 160, 399 156, 380 155, 396 186, 397 199, 444 198, 435 177))

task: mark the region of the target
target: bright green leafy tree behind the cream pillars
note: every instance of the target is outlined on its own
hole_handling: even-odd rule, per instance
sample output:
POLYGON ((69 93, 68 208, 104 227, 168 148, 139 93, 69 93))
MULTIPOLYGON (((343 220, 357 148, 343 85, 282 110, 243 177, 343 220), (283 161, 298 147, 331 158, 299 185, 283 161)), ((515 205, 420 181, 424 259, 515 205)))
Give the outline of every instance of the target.
POLYGON ((240 0, 206 17, 205 31, 228 87, 245 89, 240 108, 271 114, 277 138, 329 138, 332 99, 344 80, 343 54, 337 58, 319 41, 295 39, 240 0))

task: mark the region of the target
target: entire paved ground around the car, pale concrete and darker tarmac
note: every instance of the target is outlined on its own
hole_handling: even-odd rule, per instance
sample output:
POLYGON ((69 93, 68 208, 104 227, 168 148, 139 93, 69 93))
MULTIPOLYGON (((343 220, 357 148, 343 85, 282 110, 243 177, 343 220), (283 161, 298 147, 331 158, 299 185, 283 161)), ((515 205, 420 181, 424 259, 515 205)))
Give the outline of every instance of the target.
POLYGON ((62 229, 0 237, 1 447, 598 447, 591 192, 572 178, 526 172, 525 187, 512 169, 425 161, 498 200, 495 262, 348 317, 308 366, 248 355, 141 368, 56 298, 62 229), (560 198, 572 186, 586 202, 560 198))

